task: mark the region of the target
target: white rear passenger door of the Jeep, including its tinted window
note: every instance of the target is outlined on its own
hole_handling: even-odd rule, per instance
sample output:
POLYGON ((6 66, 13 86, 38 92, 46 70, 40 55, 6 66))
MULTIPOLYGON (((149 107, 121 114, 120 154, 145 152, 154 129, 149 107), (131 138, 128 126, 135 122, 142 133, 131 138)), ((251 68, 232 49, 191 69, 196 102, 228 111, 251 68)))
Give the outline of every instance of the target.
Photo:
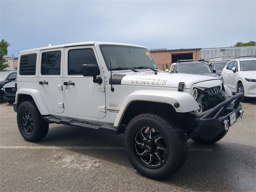
POLYGON ((39 60, 39 90, 51 114, 64 111, 62 62, 64 48, 42 50, 39 60))

